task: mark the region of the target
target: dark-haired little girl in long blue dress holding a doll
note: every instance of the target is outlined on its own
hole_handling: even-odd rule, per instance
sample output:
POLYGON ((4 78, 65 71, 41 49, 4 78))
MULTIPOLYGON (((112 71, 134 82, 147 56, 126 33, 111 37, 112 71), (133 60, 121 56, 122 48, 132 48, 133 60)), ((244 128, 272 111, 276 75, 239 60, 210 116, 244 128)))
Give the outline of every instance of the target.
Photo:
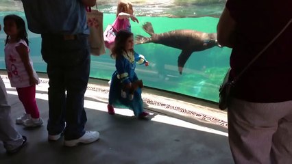
POLYGON ((132 83, 138 81, 135 73, 136 62, 138 64, 147 64, 147 60, 143 55, 134 52, 133 48, 133 33, 120 30, 117 33, 114 40, 114 47, 112 48, 112 57, 116 59, 117 70, 112 74, 110 83, 108 113, 114 114, 113 106, 128 107, 134 111, 134 115, 138 116, 138 118, 145 118, 149 113, 143 109, 141 88, 138 87, 134 91, 133 96, 129 90, 132 88, 132 83), (122 90, 123 88, 127 90, 122 90))

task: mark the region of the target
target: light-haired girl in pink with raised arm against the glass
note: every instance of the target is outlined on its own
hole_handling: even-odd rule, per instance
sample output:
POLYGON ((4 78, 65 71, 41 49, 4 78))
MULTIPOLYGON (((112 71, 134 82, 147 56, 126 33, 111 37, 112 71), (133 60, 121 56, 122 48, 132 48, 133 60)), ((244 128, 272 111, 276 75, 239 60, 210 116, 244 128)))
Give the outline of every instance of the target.
POLYGON ((108 37, 112 38, 114 35, 120 31, 121 29, 125 29, 127 31, 131 31, 131 24, 129 18, 133 20, 136 23, 139 23, 138 19, 133 15, 134 10, 132 3, 130 1, 119 1, 117 6, 117 18, 114 20, 114 23, 112 23, 112 28, 109 31, 105 31, 104 38, 105 38, 105 46, 108 49, 112 49, 112 46, 114 46, 114 43, 112 42, 112 39, 108 39, 108 37), (110 36, 108 36, 110 35, 110 36), (112 36, 113 35, 113 36, 112 36))

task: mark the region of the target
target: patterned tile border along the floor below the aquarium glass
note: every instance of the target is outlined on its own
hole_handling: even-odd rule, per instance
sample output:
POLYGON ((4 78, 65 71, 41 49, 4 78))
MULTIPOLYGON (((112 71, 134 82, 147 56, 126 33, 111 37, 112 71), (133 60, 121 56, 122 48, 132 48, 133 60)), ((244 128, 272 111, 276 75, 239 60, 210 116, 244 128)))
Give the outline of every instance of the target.
MULTIPOLYGON (((8 79, 8 77, 5 75, 2 75, 1 77, 2 77, 2 79, 8 79)), ((48 79, 40 79, 40 83, 49 83, 49 80, 48 79)), ((88 85, 87 90, 95 91, 95 92, 99 92, 99 93, 103 93, 103 94, 108 94, 108 92, 109 92, 108 89, 95 87, 93 85, 88 85)), ((195 111, 184 109, 182 107, 177 107, 174 105, 165 104, 164 102, 152 100, 151 98, 143 98, 143 102, 145 102, 148 105, 154 105, 156 107, 162 107, 163 109, 172 110, 175 113, 187 116, 189 118, 196 118, 198 120, 203 120, 203 121, 210 122, 212 124, 216 124, 216 125, 223 126, 226 128, 228 127, 228 122, 226 122, 224 120, 220 120, 218 118, 214 118, 210 115, 205 115, 202 113, 197 113, 195 111)))

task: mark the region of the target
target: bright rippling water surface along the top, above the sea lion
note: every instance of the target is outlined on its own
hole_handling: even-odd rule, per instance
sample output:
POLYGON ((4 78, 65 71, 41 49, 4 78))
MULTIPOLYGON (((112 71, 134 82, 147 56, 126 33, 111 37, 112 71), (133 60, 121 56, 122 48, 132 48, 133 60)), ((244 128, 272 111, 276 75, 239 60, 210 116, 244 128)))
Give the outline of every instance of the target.
MULTIPOLYGON (((132 3, 137 16, 219 17, 226 0, 134 0, 132 3)), ((97 5, 101 12, 117 12, 117 0, 99 0, 97 5)))

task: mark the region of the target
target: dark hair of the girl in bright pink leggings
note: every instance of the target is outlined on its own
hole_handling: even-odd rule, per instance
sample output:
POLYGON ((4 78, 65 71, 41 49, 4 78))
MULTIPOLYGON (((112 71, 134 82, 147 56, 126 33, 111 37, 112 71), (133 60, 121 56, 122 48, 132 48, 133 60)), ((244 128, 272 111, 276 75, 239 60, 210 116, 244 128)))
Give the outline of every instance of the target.
MULTIPOLYGON (((16 24, 17 29, 19 30, 19 35, 17 36, 17 41, 25 40, 26 44, 28 45, 28 36, 25 29, 25 21, 20 16, 16 16, 14 14, 10 14, 4 17, 3 22, 5 23, 6 20, 13 20, 16 24)), ((5 45, 8 43, 10 36, 6 36, 5 45)))

